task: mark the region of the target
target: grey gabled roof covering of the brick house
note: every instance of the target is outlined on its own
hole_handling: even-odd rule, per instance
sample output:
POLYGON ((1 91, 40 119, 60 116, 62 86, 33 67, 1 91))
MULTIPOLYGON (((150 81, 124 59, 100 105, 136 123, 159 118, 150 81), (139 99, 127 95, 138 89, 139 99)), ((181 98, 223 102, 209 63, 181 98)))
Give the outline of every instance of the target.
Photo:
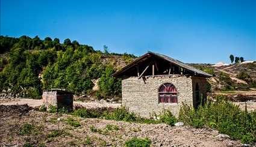
POLYGON ((176 59, 170 58, 169 56, 166 55, 162 55, 160 53, 154 53, 154 52, 149 52, 145 53, 145 55, 140 56, 139 58, 135 59, 133 62, 131 62, 130 64, 126 65, 125 67, 123 67, 121 70, 117 71, 116 73, 113 74, 113 76, 119 76, 120 74, 122 74, 124 71, 129 70, 131 67, 134 67, 134 65, 137 64, 137 62, 147 58, 148 56, 156 56, 158 58, 164 59, 167 62, 170 62, 171 64, 175 64, 179 67, 182 67, 186 70, 192 71, 192 73, 195 73, 195 75, 198 76, 202 76, 202 77, 212 77, 211 74, 205 73, 204 71, 198 70, 195 67, 192 67, 190 65, 187 65, 181 61, 178 61, 176 59))

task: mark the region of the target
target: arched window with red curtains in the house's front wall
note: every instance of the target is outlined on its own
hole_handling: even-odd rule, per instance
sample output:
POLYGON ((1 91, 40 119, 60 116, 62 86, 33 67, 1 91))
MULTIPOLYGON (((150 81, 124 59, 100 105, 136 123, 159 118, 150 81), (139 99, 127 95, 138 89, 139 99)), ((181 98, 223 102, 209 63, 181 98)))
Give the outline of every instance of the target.
POLYGON ((178 103, 177 90, 171 83, 164 83, 158 89, 158 103, 178 103))

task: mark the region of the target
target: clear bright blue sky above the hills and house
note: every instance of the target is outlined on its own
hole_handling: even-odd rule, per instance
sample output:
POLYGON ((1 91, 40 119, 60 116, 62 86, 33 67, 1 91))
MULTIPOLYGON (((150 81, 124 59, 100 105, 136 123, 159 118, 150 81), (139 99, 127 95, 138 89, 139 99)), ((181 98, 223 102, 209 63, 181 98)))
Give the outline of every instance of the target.
POLYGON ((183 62, 256 59, 256 1, 1 0, 0 34, 77 40, 94 49, 183 62))

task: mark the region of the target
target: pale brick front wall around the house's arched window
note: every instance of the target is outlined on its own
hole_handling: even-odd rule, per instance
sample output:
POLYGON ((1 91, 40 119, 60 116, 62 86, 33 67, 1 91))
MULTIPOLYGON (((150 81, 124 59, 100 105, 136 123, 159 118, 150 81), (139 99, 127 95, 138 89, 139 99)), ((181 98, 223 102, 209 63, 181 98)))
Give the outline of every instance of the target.
POLYGON ((169 109, 178 116, 182 103, 193 104, 192 77, 149 77, 146 80, 130 77, 122 80, 122 105, 143 117, 169 109), (163 83, 172 83, 178 91, 178 103, 158 103, 158 88, 163 83))

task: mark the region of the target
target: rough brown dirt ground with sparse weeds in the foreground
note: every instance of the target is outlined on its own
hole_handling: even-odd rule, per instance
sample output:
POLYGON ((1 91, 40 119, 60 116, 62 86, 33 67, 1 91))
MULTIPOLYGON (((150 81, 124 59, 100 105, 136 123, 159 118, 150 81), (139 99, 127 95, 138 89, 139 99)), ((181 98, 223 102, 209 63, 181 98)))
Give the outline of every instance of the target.
POLYGON ((76 118, 66 114, 38 112, 26 106, 0 106, 0 112, 2 145, 17 143, 22 146, 30 143, 34 146, 123 146, 132 137, 148 137, 152 146, 240 146, 240 141, 216 137, 219 133, 209 128, 76 118), (67 118, 76 120, 81 126, 67 124, 67 118), (32 131, 22 133, 24 124, 33 126, 32 131), (108 130, 107 125, 117 129, 108 130), (58 132, 57 135, 52 135, 54 131, 58 132))

